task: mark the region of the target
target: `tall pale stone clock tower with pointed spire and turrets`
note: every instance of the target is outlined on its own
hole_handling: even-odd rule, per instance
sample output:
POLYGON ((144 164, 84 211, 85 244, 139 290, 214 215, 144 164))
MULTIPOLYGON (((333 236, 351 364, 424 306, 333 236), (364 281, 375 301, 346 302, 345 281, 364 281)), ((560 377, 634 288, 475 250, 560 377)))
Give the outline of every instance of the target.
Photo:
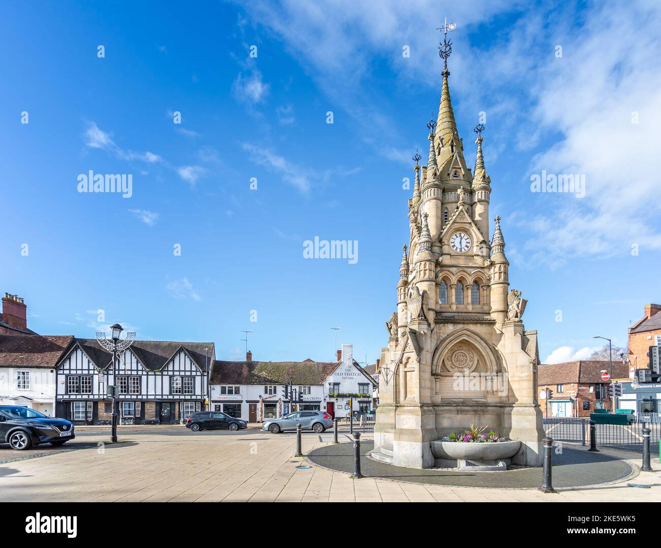
MULTIPOLYGON (((447 27, 446 27, 447 28, 447 27)), ((491 179, 477 126, 475 167, 464 158, 444 58, 438 118, 427 165, 416 155, 408 200, 408 246, 399 269, 397 312, 381 354, 375 449, 399 466, 434 466, 430 442, 469 425, 522 442, 512 462, 541 465, 537 332, 522 323, 525 299, 509 290, 500 217, 490 235, 491 179)))

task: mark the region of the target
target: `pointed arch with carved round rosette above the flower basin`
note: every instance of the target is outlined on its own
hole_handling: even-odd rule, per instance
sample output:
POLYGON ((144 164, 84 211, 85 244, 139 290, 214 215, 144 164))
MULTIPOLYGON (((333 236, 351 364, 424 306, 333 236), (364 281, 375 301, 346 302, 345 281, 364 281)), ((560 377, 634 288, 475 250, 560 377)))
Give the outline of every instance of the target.
POLYGON ((504 361, 496 348, 470 329, 459 329, 440 340, 432 355, 432 375, 469 372, 500 373, 504 361))

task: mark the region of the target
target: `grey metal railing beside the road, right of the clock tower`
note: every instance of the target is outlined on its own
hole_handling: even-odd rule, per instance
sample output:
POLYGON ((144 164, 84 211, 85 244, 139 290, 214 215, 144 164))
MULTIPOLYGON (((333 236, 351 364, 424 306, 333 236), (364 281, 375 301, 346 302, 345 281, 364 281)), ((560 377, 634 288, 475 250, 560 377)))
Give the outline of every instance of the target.
MULTIPOLYGON (((549 417, 543 419, 547 436, 559 442, 590 443, 590 419, 571 417, 549 417)), ((632 424, 595 424, 598 446, 642 451, 642 428, 647 426, 650 434, 650 451, 659 450, 661 438, 660 422, 633 422, 632 424)))

